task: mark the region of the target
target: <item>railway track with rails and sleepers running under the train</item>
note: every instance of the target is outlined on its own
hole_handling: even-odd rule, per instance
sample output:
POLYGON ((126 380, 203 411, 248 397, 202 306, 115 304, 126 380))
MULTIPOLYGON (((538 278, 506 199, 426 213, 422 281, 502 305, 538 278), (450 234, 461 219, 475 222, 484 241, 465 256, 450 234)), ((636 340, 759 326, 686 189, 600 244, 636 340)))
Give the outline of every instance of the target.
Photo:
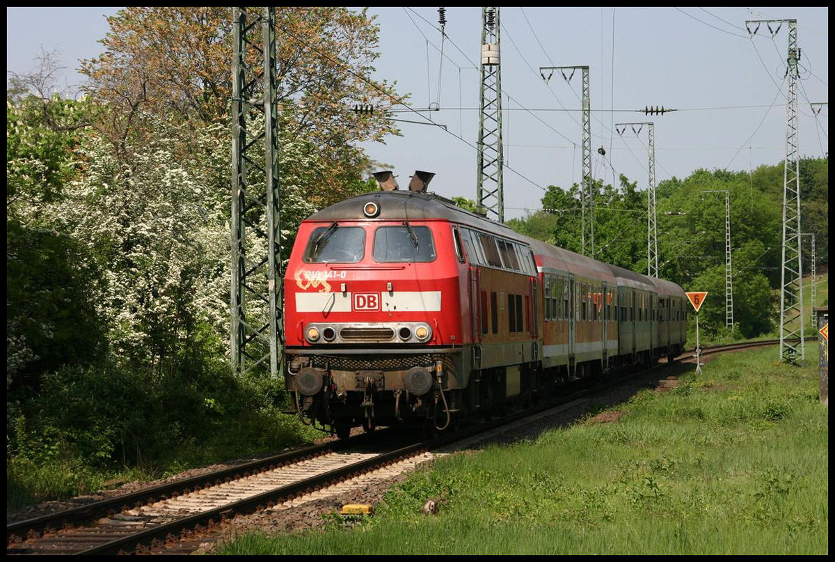
MULTIPOLYGON (((778 340, 720 345, 702 355, 775 345, 778 340)), ((679 355, 686 360, 695 350, 679 355)), ((655 365, 654 369, 663 368, 655 365)), ((408 470, 433 458, 433 451, 455 442, 478 439, 527 416, 583 400, 632 377, 620 377, 592 389, 581 389, 558 401, 542 402, 429 441, 382 429, 348 440, 284 452, 231 468, 140 492, 89 503, 7 525, 7 554, 187 554, 226 521, 265 508, 291 508, 294 499, 333 488, 384 467, 408 470), (396 443, 384 446, 382 443, 396 443)))

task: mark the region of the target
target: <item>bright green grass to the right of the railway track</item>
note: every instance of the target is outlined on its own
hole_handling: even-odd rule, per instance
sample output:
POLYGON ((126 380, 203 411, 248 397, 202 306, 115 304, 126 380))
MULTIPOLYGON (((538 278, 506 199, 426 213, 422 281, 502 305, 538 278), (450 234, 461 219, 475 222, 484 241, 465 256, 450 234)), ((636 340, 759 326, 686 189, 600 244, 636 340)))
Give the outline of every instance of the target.
MULTIPOLYGON (((771 347, 645 390, 614 423, 433 463, 367 524, 245 534, 221 554, 828 554, 817 366, 771 347), (437 515, 425 515, 437 498, 437 515)), ((331 514, 331 520, 338 520, 331 514)))

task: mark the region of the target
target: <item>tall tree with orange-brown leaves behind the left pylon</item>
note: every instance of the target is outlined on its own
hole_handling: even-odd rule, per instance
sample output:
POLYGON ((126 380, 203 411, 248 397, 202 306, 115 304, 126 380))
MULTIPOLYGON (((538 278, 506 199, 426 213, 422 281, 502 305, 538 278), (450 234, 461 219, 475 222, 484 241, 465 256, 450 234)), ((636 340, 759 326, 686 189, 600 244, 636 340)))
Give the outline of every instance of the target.
MULTIPOLYGON (((182 124, 177 147, 205 125, 229 123, 232 11, 223 7, 124 8, 109 18, 105 53, 83 61, 88 91, 109 108, 100 123, 120 158, 139 147, 151 116, 182 124), (129 136, 137 138, 128 143, 129 136)), ((358 115, 352 104, 391 105, 392 86, 368 78, 379 56, 378 27, 366 13, 347 8, 277 8, 276 56, 281 129, 304 141, 324 164, 306 186, 321 204, 361 180, 367 157, 362 140, 397 134, 382 111, 358 115)), ((280 157, 281 160, 281 157, 280 157)), ((283 161, 282 161, 283 165, 283 161)))

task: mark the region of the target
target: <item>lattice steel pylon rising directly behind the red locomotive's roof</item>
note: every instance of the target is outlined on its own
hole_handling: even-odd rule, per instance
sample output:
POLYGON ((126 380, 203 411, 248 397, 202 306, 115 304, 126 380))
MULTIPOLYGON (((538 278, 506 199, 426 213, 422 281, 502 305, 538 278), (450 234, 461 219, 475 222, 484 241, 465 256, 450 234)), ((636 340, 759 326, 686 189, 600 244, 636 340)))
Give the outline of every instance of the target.
POLYGON ((481 8, 481 93, 478 116, 478 193, 476 207, 504 222, 502 151, 502 71, 498 8, 481 8))

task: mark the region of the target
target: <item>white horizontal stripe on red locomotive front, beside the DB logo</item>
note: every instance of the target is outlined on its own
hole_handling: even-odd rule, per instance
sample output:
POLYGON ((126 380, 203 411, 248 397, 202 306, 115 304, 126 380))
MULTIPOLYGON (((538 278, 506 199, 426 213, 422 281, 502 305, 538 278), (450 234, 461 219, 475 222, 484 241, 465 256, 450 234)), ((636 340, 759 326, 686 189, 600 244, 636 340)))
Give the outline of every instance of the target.
MULTIPOLYGON (((359 291, 357 294, 364 294, 359 291)), ((296 293, 296 312, 360 312, 353 307, 353 294, 296 293)), ((380 306, 369 312, 440 312, 441 291, 382 291, 380 306)))

